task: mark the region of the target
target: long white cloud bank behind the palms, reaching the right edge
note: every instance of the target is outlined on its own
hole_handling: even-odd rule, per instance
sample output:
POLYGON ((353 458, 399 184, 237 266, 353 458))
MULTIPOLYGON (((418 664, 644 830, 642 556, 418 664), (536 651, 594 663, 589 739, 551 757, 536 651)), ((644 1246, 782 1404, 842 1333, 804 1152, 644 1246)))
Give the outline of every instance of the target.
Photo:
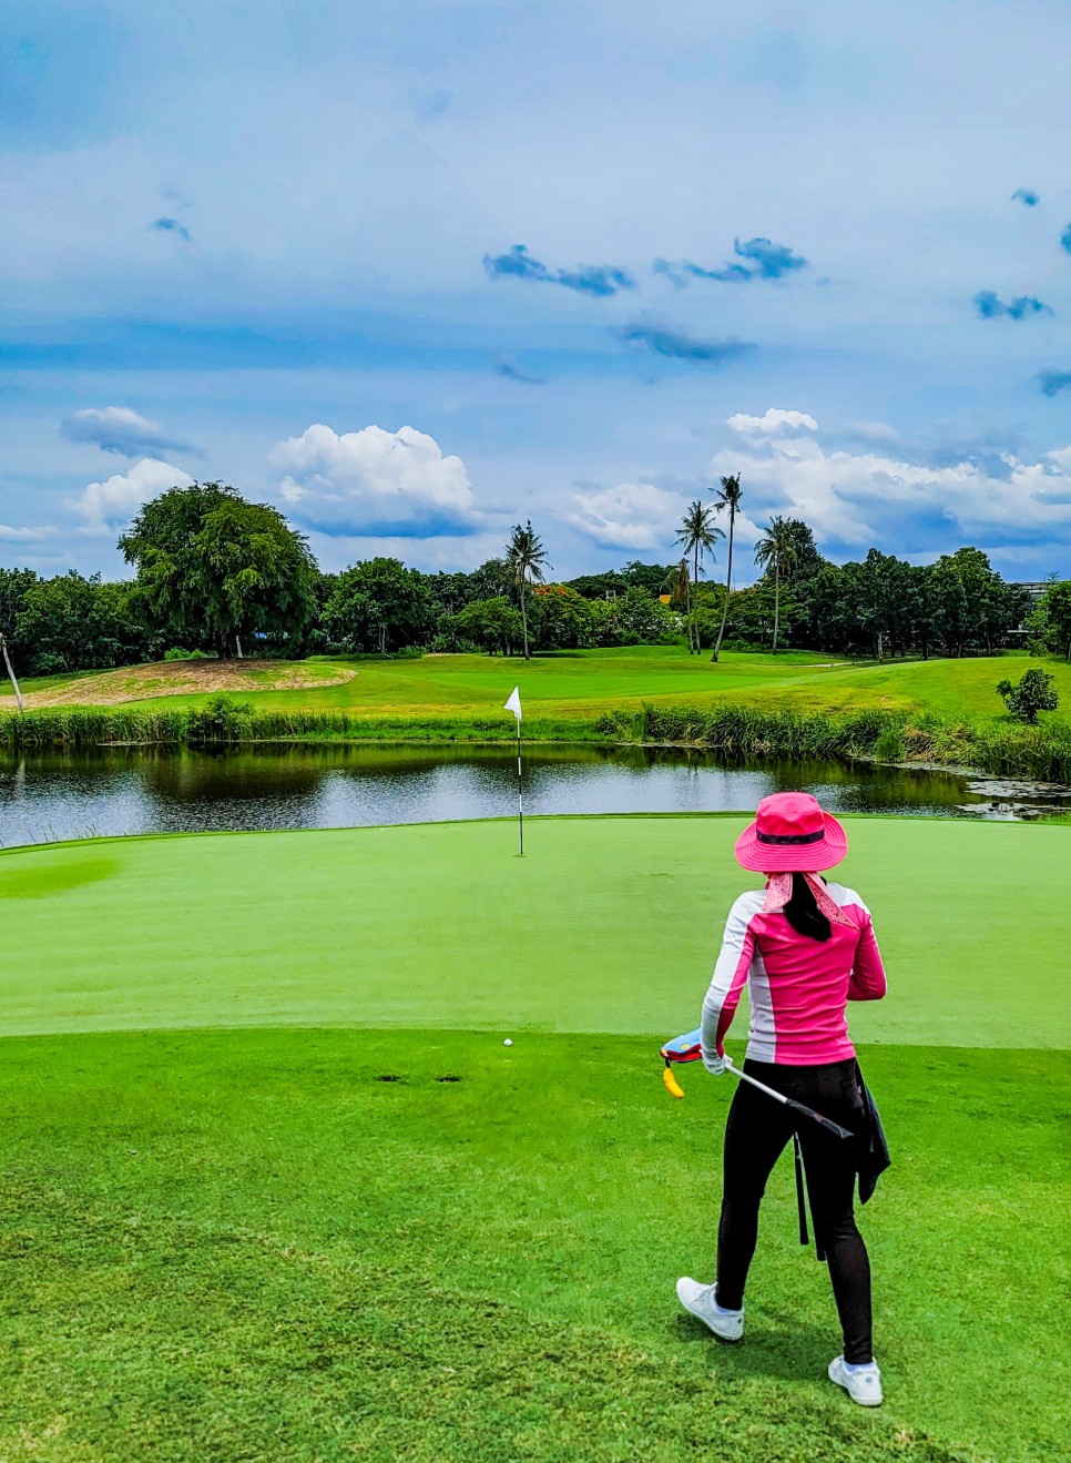
MULTIPOLYGON (((768 437, 714 458, 715 474, 739 471, 745 505, 777 505, 819 541, 852 549, 900 543, 916 527, 982 543, 1071 533, 1071 471, 1065 449, 1030 462, 1007 452, 999 473, 985 458, 944 467, 878 449, 830 451, 812 436, 768 437)), ((925 546, 923 546, 925 547, 925 546)))

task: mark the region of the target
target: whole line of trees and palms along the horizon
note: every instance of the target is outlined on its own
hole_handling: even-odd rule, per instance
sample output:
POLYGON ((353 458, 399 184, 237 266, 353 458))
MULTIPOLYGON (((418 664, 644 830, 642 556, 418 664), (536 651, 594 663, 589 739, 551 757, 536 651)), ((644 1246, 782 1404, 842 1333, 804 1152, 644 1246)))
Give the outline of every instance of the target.
POLYGON ((689 506, 676 563, 555 581, 531 522, 471 572, 377 556, 325 573, 277 509, 219 483, 176 487, 119 540, 127 581, 0 569, 0 641, 16 673, 37 676, 198 654, 530 655, 682 639, 713 658, 726 647, 963 655, 1024 641, 1071 658, 1071 581, 1031 612, 1029 593, 974 547, 931 565, 878 549, 835 565, 806 524, 778 516, 755 549, 755 584, 732 588, 732 560, 723 582, 708 579, 718 541, 734 547, 740 496, 739 478, 723 478, 715 503, 689 506))

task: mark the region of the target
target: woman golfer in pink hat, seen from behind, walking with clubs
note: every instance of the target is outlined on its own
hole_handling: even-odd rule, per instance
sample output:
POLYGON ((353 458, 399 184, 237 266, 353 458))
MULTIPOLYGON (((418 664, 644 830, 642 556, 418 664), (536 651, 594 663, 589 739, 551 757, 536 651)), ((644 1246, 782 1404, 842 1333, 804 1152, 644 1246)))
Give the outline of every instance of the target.
MULTIPOLYGON (((879 1001, 885 971, 863 901, 854 890, 819 878, 846 851, 844 828, 808 793, 775 793, 758 805, 736 857, 745 869, 765 873, 767 887, 742 894, 730 910, 702 1004, 702 1062, 715 1077, 724 1072, 723 1042, 746 980, 745 1072, 856 1132, 863 1099, 844 1007, 879 1001)), ((759 1204, 796 1124, 783 1103, 746 1083, 736 1088, 726 1124, 717 1283, 677 1280, 685 1309, 724 1342, 743 1336, 743 1287, 759 1204)), ((871 1263, 853 1211, 854 1144, 812 1124, 797 1131, 844 1333, 830 1378, 853 1402, 876 1407, 881 1374, 871 1350, 871 1263)))

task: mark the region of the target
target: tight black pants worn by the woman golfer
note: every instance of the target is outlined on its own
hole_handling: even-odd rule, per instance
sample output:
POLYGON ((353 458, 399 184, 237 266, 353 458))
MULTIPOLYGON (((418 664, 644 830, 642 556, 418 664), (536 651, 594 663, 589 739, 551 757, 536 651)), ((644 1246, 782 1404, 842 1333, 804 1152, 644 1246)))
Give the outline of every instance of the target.
MULTIPOLYGON (((859 1131, 863 1109, 854 1080, 854 1062, 778 1067, 773 1062, 748 1061, 743 1069, 767 1087, 833 1118, 843 1128, 859 1131)), ((825 1132, 815 1122, 797 1119, 792 1109, 748 1083, 740 1083, 736 1088, 726 1124, 724 1189, 718 1223, 718 1305, 730 1311, 743 1305, 743 1286, 758 1239, 759 1204, 767 1179, 793 1129, 799 1132, 803 1148, 815 1233, 830 1264, 833 1293, 844 1331, 844 1361, 869 1362, 871 1261, 854 1219, 854 1144, 825 1132)))

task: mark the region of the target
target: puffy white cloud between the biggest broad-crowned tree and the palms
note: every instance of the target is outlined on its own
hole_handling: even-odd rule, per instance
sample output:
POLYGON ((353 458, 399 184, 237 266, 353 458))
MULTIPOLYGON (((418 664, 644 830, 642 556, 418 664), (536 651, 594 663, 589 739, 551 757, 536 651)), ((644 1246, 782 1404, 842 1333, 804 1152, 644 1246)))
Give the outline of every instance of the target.
POLYGON ((476 533, 481 516, 465 464, 414 427, 363 427, 341 436, 323 423, 277 443, 287 512, 329 535, 437 538, 476 533))

